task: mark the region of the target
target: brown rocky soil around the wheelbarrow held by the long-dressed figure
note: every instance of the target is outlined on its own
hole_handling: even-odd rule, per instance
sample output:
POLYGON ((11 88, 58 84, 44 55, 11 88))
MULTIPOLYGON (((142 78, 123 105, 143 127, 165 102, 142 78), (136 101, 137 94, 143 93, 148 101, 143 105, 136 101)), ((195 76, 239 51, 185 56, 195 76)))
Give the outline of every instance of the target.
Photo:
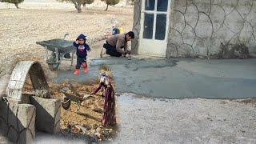
MULTIPOLYGON (((69 94, 74 94, 82 99, 85 94, 90 94, 98 86, 98 80, 91 85, 68 81, 63 83, 48 83, 51 98, 61 100, 64 97, 64 94, 61 92, 62 88, 68 88, 69 94)), ((34 93, 29 77, 26 78, 23 93, 34 93)), ((104 97, 102 97, 102 92, 98 92, 98 94, 82 100, 79 108, 77 102, 71 102, 68 110, 63 108, 61 110, 60 134, 72 134, 74 137, 83 136, 89 138, 90 142, 111 141, 117 129, 114 126, 102 126, 103 106, 104 97)))

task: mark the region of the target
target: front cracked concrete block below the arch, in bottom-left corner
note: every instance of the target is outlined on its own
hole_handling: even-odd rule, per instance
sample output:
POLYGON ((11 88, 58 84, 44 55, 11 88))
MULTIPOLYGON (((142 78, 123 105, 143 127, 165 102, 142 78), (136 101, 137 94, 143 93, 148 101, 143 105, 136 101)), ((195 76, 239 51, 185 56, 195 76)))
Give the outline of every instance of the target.
POLYGON ((33 142, 35 115, 33 105, 0 101, 0 134, 15 143, 33 142))

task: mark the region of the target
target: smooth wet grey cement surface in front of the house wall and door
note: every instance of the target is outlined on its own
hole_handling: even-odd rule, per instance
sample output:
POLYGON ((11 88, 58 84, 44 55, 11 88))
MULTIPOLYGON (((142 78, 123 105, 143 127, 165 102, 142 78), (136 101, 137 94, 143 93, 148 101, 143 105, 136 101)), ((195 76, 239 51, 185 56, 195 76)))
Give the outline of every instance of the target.
POLYGON ((91 60, 88 74, 60 71, 53 82, 92 82, 102 65, 113 72, 119 93, 160 98, 256 97, 256 59, 98 58, 91 60))

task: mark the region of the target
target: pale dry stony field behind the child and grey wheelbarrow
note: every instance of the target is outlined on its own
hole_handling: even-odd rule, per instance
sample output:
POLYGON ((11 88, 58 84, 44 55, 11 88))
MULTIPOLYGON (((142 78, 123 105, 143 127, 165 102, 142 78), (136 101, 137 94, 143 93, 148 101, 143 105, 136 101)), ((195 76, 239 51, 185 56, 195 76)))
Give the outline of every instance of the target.
MULTIPOLYGON (((32 3, 16 10, 8 6, 2 8, 0 5, 0 76, 10 74, 19 59, 38 60, 46 68, 45 49, 36 44, 38 41, 63 38, 66 33, 69 34, 66 39, 74 41, 83 33, 87 35, 89 45, 94 45, 104 40, 104 34, 110 32, 112 26, 122 26, 129 31, 133 22, 133 9, 129 7, 111 7, 108 11, 90 7, 78 14, 73 7, 31 9, 38 6, 32 3)), ((89 58, 98 57, 94 54, 93 49, 89 58)))

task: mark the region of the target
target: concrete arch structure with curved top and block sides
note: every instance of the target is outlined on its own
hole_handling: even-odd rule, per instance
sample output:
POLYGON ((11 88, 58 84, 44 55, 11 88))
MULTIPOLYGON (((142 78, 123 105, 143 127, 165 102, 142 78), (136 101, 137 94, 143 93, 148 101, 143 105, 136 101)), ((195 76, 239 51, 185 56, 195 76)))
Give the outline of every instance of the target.
POLYGON ((49 86, 39 62, 18 62, 12 74, 1 79, 0 134, 11 142, 31 143, 35 130, 55 134, 60 130, 61 101, 50 99, 49 86), (30 76, 34 93, 24 94, 30 76))

